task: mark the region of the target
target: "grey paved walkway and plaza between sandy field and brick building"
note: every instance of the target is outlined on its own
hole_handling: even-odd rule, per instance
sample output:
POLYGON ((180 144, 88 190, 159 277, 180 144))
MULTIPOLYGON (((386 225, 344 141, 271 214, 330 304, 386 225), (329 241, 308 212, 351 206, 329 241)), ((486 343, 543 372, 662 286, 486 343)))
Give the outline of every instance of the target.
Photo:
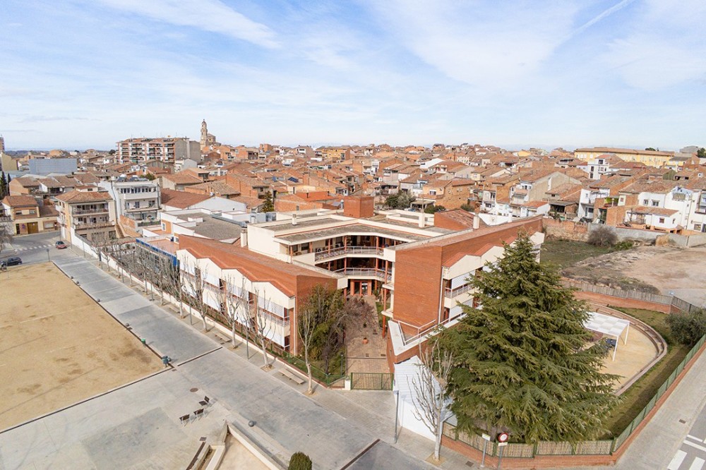
MULTIPOLYGON (((282 364, 261 370, 263 358, 255 348, 222 347, 209 337, 213 332, 197 330, 200 322, 192 327, 188 318, 160 308, 90 260, 68 258, 57 265, 116 320, 174 358, 174 368, 0 433, 0 468, 184 468, 199 440, 215 439, 224 421, 248 430, 251 440, 285 466, 301 451, 314 468, 337 469, 378 439, 393 442, 391 394, 320 387, 307 397, 306 385, 278 372, 282 364), (204 396, 212 404, 203 417, 181 423, 204 396)), ((423 462, 430 441, 403 434, 395 447, 373 447, 384 448, 386 468, 432 468, 423 462)))

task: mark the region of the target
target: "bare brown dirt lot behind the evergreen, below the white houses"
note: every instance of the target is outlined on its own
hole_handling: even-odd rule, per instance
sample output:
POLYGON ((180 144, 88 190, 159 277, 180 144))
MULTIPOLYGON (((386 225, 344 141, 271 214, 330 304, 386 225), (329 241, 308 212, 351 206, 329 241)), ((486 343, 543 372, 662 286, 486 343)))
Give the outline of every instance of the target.
POLYGON ((623 289, 693 291, 698 296, 706 287, 706 248, 641 246, 583 260, 562 274, 623 289))

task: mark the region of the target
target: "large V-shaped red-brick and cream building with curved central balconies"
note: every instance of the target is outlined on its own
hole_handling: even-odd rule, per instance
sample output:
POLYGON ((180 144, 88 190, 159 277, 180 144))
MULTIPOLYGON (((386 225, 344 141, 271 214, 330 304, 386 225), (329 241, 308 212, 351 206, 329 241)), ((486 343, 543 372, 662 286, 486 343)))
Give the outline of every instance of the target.
POLYGON ((537 246, 544 240, 541 217, 461 231, 436 227, 433 219, 400 210, 375 213, 372 198, 349 197, 342 213, 292 212, 249 224, 239 246, 182 236, 177 254, 186 275, 196 267, 208 271, 216 311, 223 310, 222 292, 233 282, 249 296, 258 292, 258 301, 268 299, 277 325, 273 342, 294 354, 297 307, 314 285, 378 294, 393 366, 416 354, 438 325, 457 323, 459 303, 474 304, 468 279, 502 256, 503 242, 520 231, 537 246))

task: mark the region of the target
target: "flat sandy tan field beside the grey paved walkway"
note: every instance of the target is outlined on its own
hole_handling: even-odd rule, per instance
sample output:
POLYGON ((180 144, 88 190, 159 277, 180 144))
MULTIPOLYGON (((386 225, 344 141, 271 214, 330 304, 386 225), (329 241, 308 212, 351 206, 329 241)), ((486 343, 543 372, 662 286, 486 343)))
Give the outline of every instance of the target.
POLYGON ((0 276, 0 429, 162 368, 50 263, 0 276))

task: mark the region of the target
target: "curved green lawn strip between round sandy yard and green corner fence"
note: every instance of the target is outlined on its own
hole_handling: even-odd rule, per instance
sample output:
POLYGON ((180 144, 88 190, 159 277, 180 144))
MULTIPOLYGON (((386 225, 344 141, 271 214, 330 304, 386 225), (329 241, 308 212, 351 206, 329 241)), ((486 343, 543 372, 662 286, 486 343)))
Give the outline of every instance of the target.
POLYGON ((638 416, 638 413, 645 408, 650 399, 657 393, 657 389, 669 378, 676 366, 683 361, 686 354, 691 349, 688 346, 678 344, 671 337, 669 326, 666 324, 666 314, 640 308, 621 308, 611 306, 621 312, 627 313, 657 330, 667 342, 667 353, 657 364, 642 375, 625 393, 621 395, 622 402, 618 404, 611 417, 606 421, 606 428, 613 437, 625 430, 630 422, 638 416))

